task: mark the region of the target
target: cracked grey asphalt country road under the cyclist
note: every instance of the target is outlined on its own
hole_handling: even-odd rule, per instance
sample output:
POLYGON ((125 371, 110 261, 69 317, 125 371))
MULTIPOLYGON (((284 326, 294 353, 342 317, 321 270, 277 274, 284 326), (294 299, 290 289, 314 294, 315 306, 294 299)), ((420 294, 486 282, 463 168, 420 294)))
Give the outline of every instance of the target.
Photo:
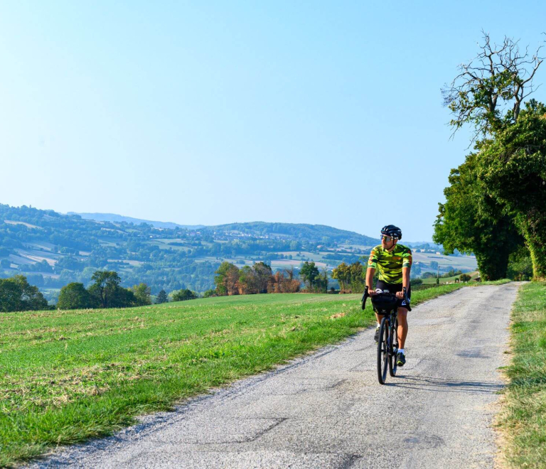
POLYGON ((33 468, 484 468, 518 284, 413 309, 407 364, 378 384, 373 330, 146 416, 33 468))

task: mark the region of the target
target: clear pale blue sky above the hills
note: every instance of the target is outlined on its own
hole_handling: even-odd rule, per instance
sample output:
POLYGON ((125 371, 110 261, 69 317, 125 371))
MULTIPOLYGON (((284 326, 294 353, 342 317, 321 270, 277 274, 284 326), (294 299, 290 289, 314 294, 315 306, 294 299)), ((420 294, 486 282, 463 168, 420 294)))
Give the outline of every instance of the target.
POLYGON ((539 1, 1 1, 0 203, 429 240, 469 144, 441 86, 482 28, 536 48, 544 18, 539 1))

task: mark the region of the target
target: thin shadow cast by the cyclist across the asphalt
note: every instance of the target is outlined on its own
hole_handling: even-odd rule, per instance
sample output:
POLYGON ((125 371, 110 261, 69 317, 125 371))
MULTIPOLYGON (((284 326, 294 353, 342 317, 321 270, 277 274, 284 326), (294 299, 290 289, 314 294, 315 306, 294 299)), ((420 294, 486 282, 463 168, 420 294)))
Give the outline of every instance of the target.
POLYGON ((503 388, 502 384, 493 382, 442 379, 429 376, 405 377, 400 374, 397 374, 396 381, 387 382, 387 385, 407 389, 419 389, 421 391, 465 392, 467 394, 492 394, 503 388), (398 379, 401 380, 398 381, 398 379))

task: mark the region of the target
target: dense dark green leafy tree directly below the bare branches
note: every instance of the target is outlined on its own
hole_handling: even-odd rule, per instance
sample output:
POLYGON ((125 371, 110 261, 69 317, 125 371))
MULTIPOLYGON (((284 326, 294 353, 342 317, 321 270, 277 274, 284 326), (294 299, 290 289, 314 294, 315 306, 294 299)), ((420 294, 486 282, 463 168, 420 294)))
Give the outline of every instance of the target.
POLYGON ((476 254, 484 280, 503 279, 508 256, 522 244, 512 217, 503 205, 487 195, 478 180, 476 153, 452 169, 449 187, 444 190, 446 203, 439 204, 433 240, 444 246, 446 254, 455 249, 476 254))

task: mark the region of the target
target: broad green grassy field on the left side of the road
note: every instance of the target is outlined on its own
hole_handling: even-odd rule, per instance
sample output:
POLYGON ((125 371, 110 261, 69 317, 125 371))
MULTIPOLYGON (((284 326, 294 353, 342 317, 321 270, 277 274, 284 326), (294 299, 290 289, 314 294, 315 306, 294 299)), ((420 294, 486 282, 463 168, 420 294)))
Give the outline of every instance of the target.
MULTIPOLYGON (((413 304, 461 288, 415 292, 413 304)), ((0 314, 0 465, 270 370, 373 323, 360 295, 269 294, 0 314)))

